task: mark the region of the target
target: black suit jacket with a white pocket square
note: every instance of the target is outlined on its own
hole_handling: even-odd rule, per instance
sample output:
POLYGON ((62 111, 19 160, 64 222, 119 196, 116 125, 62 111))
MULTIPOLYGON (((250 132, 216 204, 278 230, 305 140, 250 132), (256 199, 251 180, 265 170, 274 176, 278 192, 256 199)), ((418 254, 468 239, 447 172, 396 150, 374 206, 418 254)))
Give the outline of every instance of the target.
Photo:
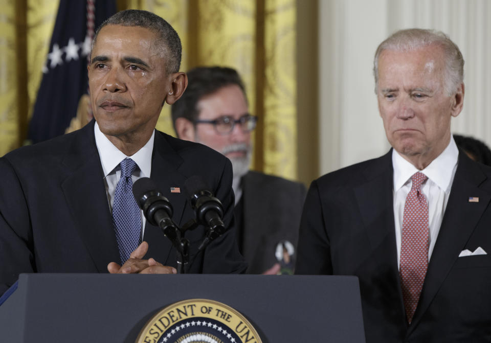
POLYGON ((300 274, 360 280, 367 343, 491 341, 491 168, 459 153, 449 201, 408 326, 393 213, 391 151, 314 181, 300 227, 300 274), (469 202, 478 197, 479 202, 469 202))

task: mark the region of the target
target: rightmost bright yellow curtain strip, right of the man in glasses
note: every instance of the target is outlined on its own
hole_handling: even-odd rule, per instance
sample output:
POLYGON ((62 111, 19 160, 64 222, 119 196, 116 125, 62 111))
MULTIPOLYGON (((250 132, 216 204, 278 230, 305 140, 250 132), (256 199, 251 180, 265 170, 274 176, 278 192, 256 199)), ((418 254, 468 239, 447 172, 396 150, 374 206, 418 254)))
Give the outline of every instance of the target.
MULTIPOLYGON (((266 0, 262 135, 263 170, 297 177, 296 3, 266 0)), ((261 77, 262 70, 257 70, 261 77)))

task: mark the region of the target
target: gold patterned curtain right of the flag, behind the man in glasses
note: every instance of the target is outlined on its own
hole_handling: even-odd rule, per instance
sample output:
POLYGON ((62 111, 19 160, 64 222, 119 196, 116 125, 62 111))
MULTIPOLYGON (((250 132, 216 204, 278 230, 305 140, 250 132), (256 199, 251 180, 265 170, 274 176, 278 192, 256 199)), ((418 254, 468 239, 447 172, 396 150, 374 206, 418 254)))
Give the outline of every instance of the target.
MULTIPOLYGON (((143 2, 167 19, 183 40, 182 70, 198 65, 236 68, 259 117, 256 170, 297 177, 296 2, 188 0, 143 2)), ((158 128, 173 132, 169 109, 158 128)))

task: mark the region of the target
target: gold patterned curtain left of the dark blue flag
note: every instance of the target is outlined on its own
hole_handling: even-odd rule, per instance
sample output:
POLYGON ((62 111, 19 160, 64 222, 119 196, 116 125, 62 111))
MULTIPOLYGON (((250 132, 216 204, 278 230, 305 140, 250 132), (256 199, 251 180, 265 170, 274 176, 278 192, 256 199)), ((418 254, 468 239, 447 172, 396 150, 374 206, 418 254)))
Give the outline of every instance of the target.
POLYGON ((0 156, 24 144, 58 1, 0 1, 0 156))

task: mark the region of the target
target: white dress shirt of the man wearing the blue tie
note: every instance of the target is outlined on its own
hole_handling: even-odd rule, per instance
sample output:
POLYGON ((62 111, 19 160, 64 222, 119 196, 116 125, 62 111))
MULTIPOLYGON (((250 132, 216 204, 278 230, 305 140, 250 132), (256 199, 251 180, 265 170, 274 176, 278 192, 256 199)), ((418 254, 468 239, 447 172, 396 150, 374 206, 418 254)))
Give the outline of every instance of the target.
MULTIPOLYGON (((150 172, 152 168, 152 151, 153 151, 153 140, 155 138, 155 130, 148 140, 148 142, 136 153, 131 156, 126 156, 121 152, 116 146, 107 139, 107 137, 99 129, 97 122, 94 125, 94 134, 96 137, 96 146, 99 151, 99 157, 101 158, 102 170, 104 171, 104 186, 106 187, 107 203, 109 204, 109 209, 113 211, 113 201, 114 193, 116 191, 116 186, 118 185, 119 179, 121 177, 121 167, 119 164, 125 158, 131 158, 137 164, 137 168, 131 174, 131 179, 133 184, 140 177, 150 177, 150 172)), ((145 231, 145 216, 142 214, 142 235, 143 237, 145 231)))

